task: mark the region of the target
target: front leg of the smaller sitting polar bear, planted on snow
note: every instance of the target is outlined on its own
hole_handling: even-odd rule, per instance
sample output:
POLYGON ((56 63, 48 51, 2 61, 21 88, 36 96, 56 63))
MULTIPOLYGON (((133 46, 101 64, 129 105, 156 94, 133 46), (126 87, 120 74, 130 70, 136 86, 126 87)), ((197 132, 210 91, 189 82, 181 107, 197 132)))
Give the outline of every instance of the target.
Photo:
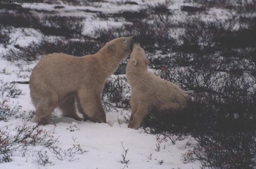
POLYGON ((140 105, 138 110, 133 116, 132 122, 128 125, 129 128, 139 129, 140 125, 143 123, 144 118, 149 114, 148 107, 144 105, 140 105))

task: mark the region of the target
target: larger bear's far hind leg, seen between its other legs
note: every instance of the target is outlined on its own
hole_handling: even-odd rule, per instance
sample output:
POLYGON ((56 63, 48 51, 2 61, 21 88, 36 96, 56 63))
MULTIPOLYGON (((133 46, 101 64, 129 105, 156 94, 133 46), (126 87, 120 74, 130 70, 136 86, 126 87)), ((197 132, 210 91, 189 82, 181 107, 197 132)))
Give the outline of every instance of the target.
POLYGON ((69 97, 63 103, 59 104, 58 107, 62 111, 64 117, 71 117, 78 121, 83 119, 76 113, 75 97, 69 97))

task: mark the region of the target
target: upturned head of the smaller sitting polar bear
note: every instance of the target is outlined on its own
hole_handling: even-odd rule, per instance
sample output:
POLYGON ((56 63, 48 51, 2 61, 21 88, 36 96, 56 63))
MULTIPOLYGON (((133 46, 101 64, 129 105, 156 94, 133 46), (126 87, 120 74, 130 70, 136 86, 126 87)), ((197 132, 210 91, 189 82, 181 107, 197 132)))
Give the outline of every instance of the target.
POLYGON ((147 65, 150 64, 150 61, 147 59, 144 49, 140 47, 139 43, 133 44, 133 50, 128 64, 133 67, 146 69, 147 65))

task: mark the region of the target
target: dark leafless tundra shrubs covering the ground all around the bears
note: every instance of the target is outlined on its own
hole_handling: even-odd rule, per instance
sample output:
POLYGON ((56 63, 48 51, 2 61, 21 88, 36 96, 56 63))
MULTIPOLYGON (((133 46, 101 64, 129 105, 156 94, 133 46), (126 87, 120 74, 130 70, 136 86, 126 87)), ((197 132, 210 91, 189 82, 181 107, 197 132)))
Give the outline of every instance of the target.
MULTIPOLYGON (((97 7, 94 1, 63 0, 63 3, 97 7)), ((153 112, 146 119, 143 129, 155 134, 156 151, 164 149, 166 141, 175 144, 177 140, 190 138, 187 146, 193 141, 197 141, 197 145, 182 154, 185 163, 199 161, 202 169, 253 169, 256 167, 256 1, 185 0, 186 5, 178 11, 169 8, 172 3, 170 0, 116 13, 91 11, 95 19, 123 24, 94 28, 86 34, 82 33, 84 25, 81 24, 86 18, 63 17, 54 11, 21 5, 12 6, 10 12, 7 6, 1 6, 5 13, 0 15, 0 43, 5 48, 15 41, 10 35, 16 28, 34 29, 42 39, 27 46, 7 48, 0 55, 23 63, 34 62, 53 52, 83 56, 97 52, 114 38, 136 36, 154 73, 177 84, 190 97, 187 109, 153 112), (215 9, 223 13, 214 13, 215 9), (30 15, 31 12, 34 14, 30 15)), ((1 73, 8 74, 5 70, 1 73)), ((22 91, 11 83, 0 83, 0 121, 8 121, 10 117, 31 119, 33 111, 29 115, 17 115, 19 104, 11 100, 22 91)), ((102 94, 104 109, 131 111, 130 90, 125 76, 111 76, 102 94)), ((124 116, 124 122, 128 122, 125 120, 128 118, 124 116)), ((57 142, 57 138, 50 137, 52 131, 41 131, 38 126, 29 128, 26 123, 18 128, 14 135, 10 135, 8 126, 0 129, 0 162, 11 161, 17 152, 26 154, 26 148, 34 145, 49 149, 60 160, 72 161, 76 159, 74 154, 85 152, 75 139, 74 147, 63 150, 52 145, 57 142)), ((125 158, 128 149, 123 149, 122 161, 128 165, 129 160, 125 158)), ((46 153, 37 151, 33 156, 40 165, 51 163, 46 153)), ((157 161, 165 165, 163 160, 157 161)))

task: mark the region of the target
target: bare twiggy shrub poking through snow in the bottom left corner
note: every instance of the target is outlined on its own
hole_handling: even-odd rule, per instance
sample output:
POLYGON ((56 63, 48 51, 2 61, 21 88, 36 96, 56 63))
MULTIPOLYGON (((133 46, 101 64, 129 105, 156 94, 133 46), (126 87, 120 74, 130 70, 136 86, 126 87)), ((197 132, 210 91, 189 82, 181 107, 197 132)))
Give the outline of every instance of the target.
MULTIPOLYGON (((27 126, 26 123, 15 127, 12 132, 10 131, 8 126, 0 129, 0 163, 12 161, 11 157, 19 153, 26 156, 28 146, 41 145, 46 148, 59 142, 52 135, 52 130, 46 131, 39 129, 38 126, 27 126)), ((47 164, 48 156, 44 156, 40 152, 37 155, 40 164, 47 164)))

